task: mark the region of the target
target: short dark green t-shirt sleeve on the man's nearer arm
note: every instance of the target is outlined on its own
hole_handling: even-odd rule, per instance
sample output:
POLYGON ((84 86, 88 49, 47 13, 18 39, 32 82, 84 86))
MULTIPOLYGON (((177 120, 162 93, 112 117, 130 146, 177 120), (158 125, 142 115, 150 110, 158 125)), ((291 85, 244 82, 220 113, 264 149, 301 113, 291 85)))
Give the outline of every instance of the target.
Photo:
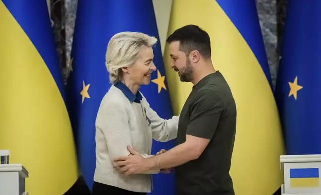
POLYGON ((212 139, 225 109, 222 99, 211 90, 202 90, 190 109, 186 134, 212 139))

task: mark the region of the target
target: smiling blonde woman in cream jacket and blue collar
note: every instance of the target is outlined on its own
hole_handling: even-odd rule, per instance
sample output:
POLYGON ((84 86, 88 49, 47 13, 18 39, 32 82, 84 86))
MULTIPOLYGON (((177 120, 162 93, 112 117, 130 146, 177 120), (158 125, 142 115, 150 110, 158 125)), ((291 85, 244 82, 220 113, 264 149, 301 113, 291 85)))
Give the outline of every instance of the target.
POLYGON ((143 195, 151 192, 152 170, 125 176, 113 166, 113 159, 131 155, 131 146, 144 158, 151 155, 152 139, 166 142, 176 138, 178 117, 169 120, 154 112, 141 85, 148 85, 153 63, 155 37, 138 32, 122 32, 108 43, 106 67, 110 87, 101 101, 96 118, 96 169, 92 195, 143 195))

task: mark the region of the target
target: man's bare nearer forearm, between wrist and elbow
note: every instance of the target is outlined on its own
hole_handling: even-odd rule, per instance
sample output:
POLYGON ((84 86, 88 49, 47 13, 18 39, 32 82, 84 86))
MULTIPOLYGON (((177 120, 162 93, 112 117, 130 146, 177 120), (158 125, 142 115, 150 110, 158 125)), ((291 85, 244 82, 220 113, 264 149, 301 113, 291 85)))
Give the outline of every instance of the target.
POLYGON ((167 152, 149 158, 150 169, 165 169, 177 167, 190 160, 195 159, 195 155, 189 153, 190 149, 183 143, 167 152))

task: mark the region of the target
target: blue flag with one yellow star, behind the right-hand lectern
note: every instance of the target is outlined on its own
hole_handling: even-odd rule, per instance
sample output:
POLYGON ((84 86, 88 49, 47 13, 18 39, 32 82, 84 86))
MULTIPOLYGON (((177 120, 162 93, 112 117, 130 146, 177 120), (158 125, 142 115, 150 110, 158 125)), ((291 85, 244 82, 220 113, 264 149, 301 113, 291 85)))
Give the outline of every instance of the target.
POLYGON ((321 154, 321 1, 287 5, 276 100, 287 154, 321 154))

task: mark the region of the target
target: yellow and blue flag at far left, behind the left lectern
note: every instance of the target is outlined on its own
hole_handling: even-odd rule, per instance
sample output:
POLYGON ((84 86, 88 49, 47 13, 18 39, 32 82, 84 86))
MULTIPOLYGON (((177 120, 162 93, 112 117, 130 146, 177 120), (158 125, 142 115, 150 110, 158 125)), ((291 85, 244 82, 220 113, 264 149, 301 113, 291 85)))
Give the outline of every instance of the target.
POLYGON ((62 195, 78 168, 46 1, 0 0, 0 149, 31 195, 62 195))

